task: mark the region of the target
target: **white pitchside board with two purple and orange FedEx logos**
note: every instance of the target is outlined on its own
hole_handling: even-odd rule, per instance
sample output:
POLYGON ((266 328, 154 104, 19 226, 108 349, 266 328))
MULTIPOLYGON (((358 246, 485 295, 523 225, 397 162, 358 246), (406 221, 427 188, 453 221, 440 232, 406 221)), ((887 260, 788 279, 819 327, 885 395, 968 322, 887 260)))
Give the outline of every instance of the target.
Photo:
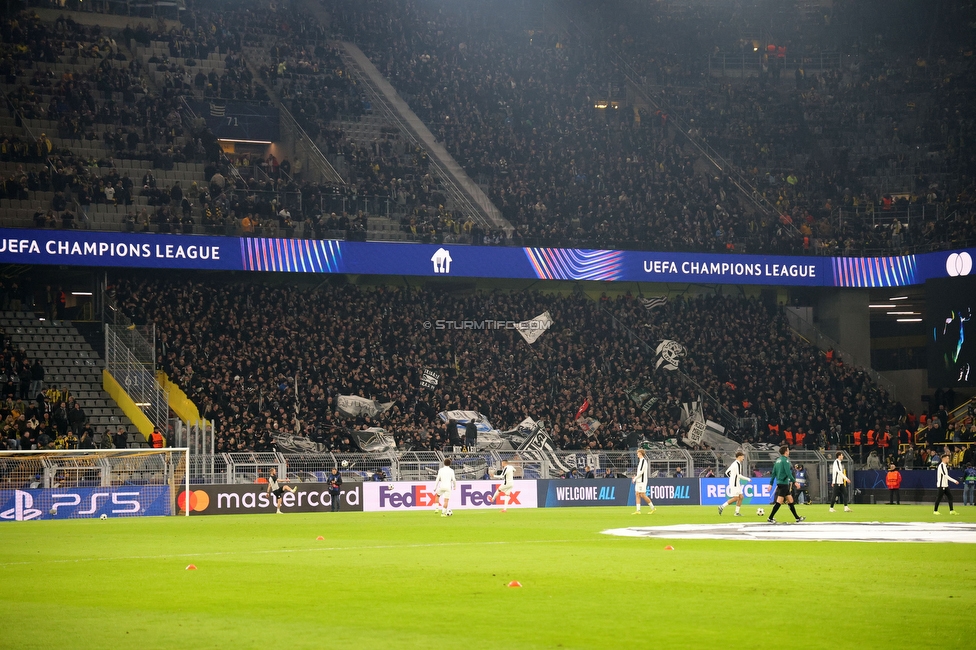
MULTIPOLYGON (((498 485, 498 481, 458 481, 451 492, 451 510, 500 507, 501 499, 497 503, 489 502, 498 485)), ((538 507, 536 481, 515 481, 511 496, 509 508, 538 507)), ((363 484, 363 510, 366 512, 433 509, 436 502, 433 481, 363 484)))

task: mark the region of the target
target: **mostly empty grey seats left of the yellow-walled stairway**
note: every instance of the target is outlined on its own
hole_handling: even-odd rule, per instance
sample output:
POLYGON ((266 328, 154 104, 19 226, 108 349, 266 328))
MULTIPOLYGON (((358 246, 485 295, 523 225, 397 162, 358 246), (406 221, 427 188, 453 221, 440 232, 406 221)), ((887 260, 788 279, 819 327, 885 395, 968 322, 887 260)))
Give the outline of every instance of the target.
POLYGON ((101 446, 106 432, 125 427, 129 447, 147 447, 145 437, 125 417, 122 409, 102 390, 102 359, 68 321, 40 320, 33 312, 0 312, 0 327, 11 345, 23 348, 33 362, 44 367, 46 388, 67 388, 88 417, 95 444, 101 446))

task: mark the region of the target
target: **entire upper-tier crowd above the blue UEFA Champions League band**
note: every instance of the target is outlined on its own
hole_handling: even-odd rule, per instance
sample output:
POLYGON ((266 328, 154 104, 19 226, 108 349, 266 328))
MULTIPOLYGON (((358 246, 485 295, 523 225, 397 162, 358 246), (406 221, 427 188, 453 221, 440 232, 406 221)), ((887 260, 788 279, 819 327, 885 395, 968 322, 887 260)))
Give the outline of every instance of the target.
MULTIPOLYGON (((927 41, 896 39, 895 21, 880 22, 873 40, 832 28, 832 21, 846 24, 866 11, 850 2, 835 3, 826 14, 778 12, 772 22, 781 32, 778 46, 736 36, 742 30, 735 25, 765 18, 751 6, 705 12, 570 3, 565 24, 539 30, 513 19, 520 13, 510 4, 335 0, 325 4, 331 32, 290 3, 190 6, 179 28, 138 25, 119 34, 70 19, 45 25, 23 13, 2 26, 0 74, 15 86, 10 99, 28 119, 56 119, 58 137, 66 140, 103 140, 112 155, 94 161, 102 167, 112 166, 113 156, 163 169, 182 161, 219 166, 224 161, 206 151, 198 134, 182 132, 180 97, 265 101, 276 95, 328 156, 343 161, 349 181, 309 186, 299 173, 289 176, 291 190, 312 198, 301 202, 301 214, 288 206, 296 221, 327 220, 332 212, 341 218, 350 206, 350 220, 358 210, 367 217, 394 213, 410 238, 424 241, 660 250, 853 254, 971 241, 976 163, 965 146, 973 135, 966 107, 976 84, 957 47, 965 30, 950 25, 965 24, 971 3, 937 23, 946 37, 934 50, 927 41), (371 56, 488 188, 515 226, 511 240, 466 230, 465 218, 446 213, 425 152, 396 133, 383 132, 372 143, 344 136, 342 121, 359 119, 370 106, 331 37, 353 40, 371 56), (126 61, 114 38, 168 43, 172 61, 148 62, 164 73, 161 88, 147 84, 140 62, 126 61), (755 54, 763 63, 754 77, 733 82, 709 75, 710 53, 745 56, 759 45, 773 50, 755 54), (804 70, 824 48, 836 48, 833 63, 804 70), (36 55, 27 57, 31 51, 36 55), (214 52, 224 69, 195 72, 193 58, 214 52), (91 70, 54 79, 19 65, 66 55, 91 62, 91 70), (784 75, 787 60, 795 62, 795 74, 784 75), (648 84, 663 110, 632 101, 624 67, 648 84), (96 125, 111 128, 96 136, 96 125), (676 125, 723 156, 734 173, 705 164, 676 125), (882 194, 862 182, 871 174, 906 176, 911 191, 882 194), (742 179, 768 209, 743 196, 742 179), (933 209, 911 217, 907 208, 919 204, 933 209)), ((37 143, 7 139, 7 149, 36 156, 37 143), (30 151, 19 151, 22 146, 30 151)), ((250 181, 232 184, 257 191, 250 181)), ((88 192, 100 199, 97 182, 88 192)), ((272 215, 281 202, 268 201, 272 215)), ((175 229, 206 221, 212 231, 229 232, 230 220, 240 231, 246 216, 218 215, 216 206, 202 203, 192 209, 190 219, 175 220, 175 229)), ((255 218, 252 212, 249 220, 255 218)), ((174 221, 165 213, 155 220, 174 221)))

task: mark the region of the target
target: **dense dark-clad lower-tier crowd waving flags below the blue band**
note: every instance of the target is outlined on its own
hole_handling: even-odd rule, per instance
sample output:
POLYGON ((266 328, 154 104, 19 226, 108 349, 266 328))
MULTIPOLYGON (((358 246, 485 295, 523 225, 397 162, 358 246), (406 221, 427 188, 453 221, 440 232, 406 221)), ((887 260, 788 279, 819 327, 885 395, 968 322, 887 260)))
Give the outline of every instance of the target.
POLYGON ((369 426, 391 431, 405 449, 441 449, 448 441, 437 414, 455 409, 483 413, 499 430, 525 417, 543 420, 564 449, 621 448, 632 434, 681 437, 680 405, 699 390, 686 377, 733 418, 758 420, 737 434, 744 441, 765 442, 774 424, 802 432, 811 448, 836 445, 841 432, 895 425, 903 415, 863 371, 826 360, 754 299, 678 298, 648 311, 629 295, 458 297, 186 278, 123 279, 116 291, 124 311, 155 324, 160 367, 216 420, 222 451, 267 446, 279 431, 342 449, 349 428, 369 426), (543 311, 555 325, 534 346, 511 330, 424 327, 543 311), (685 344, 686 376, 655 372, 653 350, 634 336, 685 344), (441 374, 433 391, 420 387, 424 368, 441 374), (657 399, 636 403, 635 387, 657 399), (377 419, 343 420, 338 395, 394 406, 377 419), (584 400, 601 423, 589 434, 574 417, 584 400))

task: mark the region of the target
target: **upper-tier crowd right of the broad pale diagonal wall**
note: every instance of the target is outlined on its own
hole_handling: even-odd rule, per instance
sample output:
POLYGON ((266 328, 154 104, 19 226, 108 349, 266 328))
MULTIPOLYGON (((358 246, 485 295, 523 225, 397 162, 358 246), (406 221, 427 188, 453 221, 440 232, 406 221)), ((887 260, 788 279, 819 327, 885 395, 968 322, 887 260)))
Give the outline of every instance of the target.
MULTIPOLYGON (((343 36, 367 50, 468 173, 490 184, 492 198, 522 239, 838 253, 959 246, 972 238, 972 156, 963 153, 968 162, 961 161, 961 147, 951 147, 953 166, 965 166, 955 192, 929 174, 928 158, 908 170, 918 178, 906 200, 939 203, 945 209, 937 217, 911 223, 902 217, 900 224, 891 216, 880 224, 873 218, 842 220, 835 210, 844 205, 888 205, 880 193, 868 195, 862 188, 860 178, 871 170, 848 165, 846 151, 838 155, 825 148, 827 135, 841 149, 853 148, 849 132, 825 135, 817 122, 824 115, 847 115, 848 128, 877 131, 884 143, 897 143, 899 137, 930 141, 938 133, 965 141, 971 125, 963 89, 973 72, 958 52, 952 52, 951 65, 940 68, 952 70, 946 82, 936 74, 902 79, 895 71, 924 61, 916 65, 912 47, 917 44, 901 40, 865 52, 863 61, 841 63, 838 54, 837 67, 809 76, 801 58, 795 81, 784 79, 784 64, 774 54, 770 68, 755 80, 721 84, 707 73, 707 55, 736 45, 730 38, 741 33, 732 27, 736 22, 761 25, 756 7, 682 12, 665 5, 598 3, 592 13, 580 12, 582 20, 576 16, 587 26, 584 32, 597 26, 593 34, 567 29, 568 34, 557 35, 527 31, 500 10, 503 5, 452 9, 376 0, 330 6, 343 36), (609 99, 613 91, 602 80, 618 80, 621 63, 591 47, 587 36, 622 52, 645 80, 666 86, 661 96, 675 113, 642 114, 626 103, 626 110, 616 111, 605 101, 601 105, 609 108, 594 109, 596 100, 609 99), (899 52, 899 46, 907 51, 899 52), (921 120, 916 115, 919 133, 899 136, 893 125, 906 110, 901 105, 915 107, 919 92, 928 93, 935 106, 944 97, 962 113, 926 112, 921 120), (882 101, 899 109, 879 110, 882 101), (728 179, 719 175, 713 182, 712 172, 696 169, 700 156, 669 128, 678 117, 686 133, 751 178, 756 194, 775 213, 751 216, 756 213, 742 208, 728 179)), ((850 3, 836 9, 840 19, 851 11, 850 3)), ((810 34, 830 34, 824 17, 816 19, 816 29, 807 29, 802 18, 785 26, 790 47, 795 41, 799 52, 809 54, 816 46, 810 34)), ((959 30, 952 35, 940 44, 941 51, 961 43, 959 30)), ((774 47, 780 48, 787 49, 774 47)), ((885 162, 877 151, 873 159, 885 162)))

